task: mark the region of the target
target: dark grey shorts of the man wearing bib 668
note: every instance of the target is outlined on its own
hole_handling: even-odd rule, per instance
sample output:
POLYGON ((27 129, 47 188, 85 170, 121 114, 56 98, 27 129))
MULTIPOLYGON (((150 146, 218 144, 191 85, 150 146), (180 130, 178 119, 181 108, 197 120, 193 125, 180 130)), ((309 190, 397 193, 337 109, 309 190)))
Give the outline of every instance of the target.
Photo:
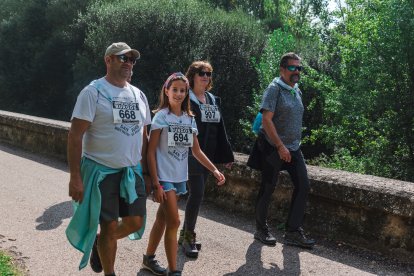
POLYGON ((132 204, 128 204, 120 196, 122 174, 122 172, 109 174, 99 184, 102 199, 100 222, 118 220, 119 217, 143 217, 146 213, 147 194, 141 177, 135 174, 135 190, 138 198, 132 204))

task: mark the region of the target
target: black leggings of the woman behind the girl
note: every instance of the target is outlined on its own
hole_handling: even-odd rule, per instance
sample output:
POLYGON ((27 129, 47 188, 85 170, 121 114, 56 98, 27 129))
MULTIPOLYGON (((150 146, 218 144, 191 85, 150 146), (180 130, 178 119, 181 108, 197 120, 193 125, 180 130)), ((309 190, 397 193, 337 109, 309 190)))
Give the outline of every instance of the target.
POLYGON ((189 193, 185 207, 184 230, 194 232, 198 213, 204 197, 208 171, 202 174, 189 175, 187 182, 189 193))

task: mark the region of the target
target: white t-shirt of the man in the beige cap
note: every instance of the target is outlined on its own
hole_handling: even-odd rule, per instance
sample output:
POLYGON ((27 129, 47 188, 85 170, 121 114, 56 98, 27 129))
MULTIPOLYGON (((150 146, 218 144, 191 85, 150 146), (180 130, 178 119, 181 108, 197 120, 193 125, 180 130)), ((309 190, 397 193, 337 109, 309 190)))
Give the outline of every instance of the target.
POLYGON ((84 156, 110 168, 138 165, 143 129, 151 123, 141 90, 129 83, 119 88, 105 78, 94 80, 80 92, 73 118, 91 122, 83 136, 84 156))

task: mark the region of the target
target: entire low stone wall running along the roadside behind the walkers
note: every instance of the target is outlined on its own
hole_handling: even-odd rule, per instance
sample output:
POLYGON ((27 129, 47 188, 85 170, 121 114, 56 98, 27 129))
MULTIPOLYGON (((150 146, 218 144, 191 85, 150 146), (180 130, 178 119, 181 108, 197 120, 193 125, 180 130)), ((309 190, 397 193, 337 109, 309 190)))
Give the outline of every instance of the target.
MULTIPOLYGON (((69 126, 0 111, 0 142, 66 160, 69 126)), ((222 168, 227 184, 207 185, 206 198, 223 210, 253 216, 260 173, 246 167, 246 160, 246 155, 236 154, 232 170, 222 168)), ((314 166, 308 170, 312 188, 307 230, 414 261, 414 183, 314 166)), ((273 229, 285 220, 291 193, 289 177, 282 172, 269 212, 273 229)))

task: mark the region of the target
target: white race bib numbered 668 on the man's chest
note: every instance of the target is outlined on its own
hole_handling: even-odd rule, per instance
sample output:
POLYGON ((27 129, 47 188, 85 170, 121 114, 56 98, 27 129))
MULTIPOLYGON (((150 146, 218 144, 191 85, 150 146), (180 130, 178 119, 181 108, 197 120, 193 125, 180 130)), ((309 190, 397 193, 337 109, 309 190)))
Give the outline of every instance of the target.
POLYGON ((142 122, 137 102, 113 101, 112 112, 115 124, 140 124, 142 122))

